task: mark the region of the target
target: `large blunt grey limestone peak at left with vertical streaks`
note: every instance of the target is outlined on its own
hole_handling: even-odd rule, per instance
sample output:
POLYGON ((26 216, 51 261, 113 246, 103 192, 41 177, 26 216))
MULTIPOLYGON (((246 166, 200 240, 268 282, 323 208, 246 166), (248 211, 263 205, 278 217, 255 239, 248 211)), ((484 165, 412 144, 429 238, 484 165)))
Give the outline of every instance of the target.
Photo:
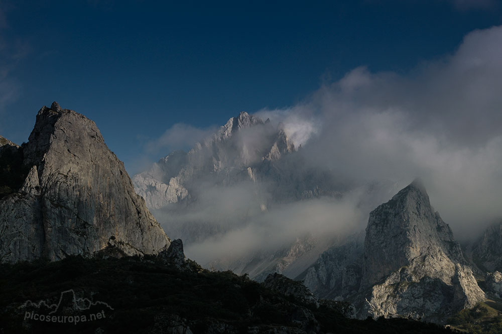
POLYGON ((29 173, 0 200, 0 261, 88 256, 110 241, 126 254, 169 246, 91 120, 56 102, 44 106, 21 149, 29 173))

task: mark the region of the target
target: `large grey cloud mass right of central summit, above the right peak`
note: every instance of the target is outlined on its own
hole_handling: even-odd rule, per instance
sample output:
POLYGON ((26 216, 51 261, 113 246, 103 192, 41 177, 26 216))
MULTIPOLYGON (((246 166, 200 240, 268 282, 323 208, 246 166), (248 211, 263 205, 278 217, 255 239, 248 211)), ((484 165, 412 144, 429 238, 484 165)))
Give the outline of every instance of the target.
POLYGON ((291 115, 316 119, 302 154, 342 179, 405 186, 420 176, 462 239, 502 216, 500 91, 502 27, 493 27, 405 75, 358 67, 301 105, 259 114, 286 126, 291 115))

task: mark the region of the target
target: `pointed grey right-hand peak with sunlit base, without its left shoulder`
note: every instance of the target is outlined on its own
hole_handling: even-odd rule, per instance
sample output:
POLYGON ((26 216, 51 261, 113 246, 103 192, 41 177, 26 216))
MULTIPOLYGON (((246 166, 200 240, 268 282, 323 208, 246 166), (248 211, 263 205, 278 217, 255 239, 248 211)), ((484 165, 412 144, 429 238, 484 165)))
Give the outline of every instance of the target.
POLYGON ((360 316, 441 322, 484 300, 453 239, 415 181, 370 213, 359 292, 360 316))

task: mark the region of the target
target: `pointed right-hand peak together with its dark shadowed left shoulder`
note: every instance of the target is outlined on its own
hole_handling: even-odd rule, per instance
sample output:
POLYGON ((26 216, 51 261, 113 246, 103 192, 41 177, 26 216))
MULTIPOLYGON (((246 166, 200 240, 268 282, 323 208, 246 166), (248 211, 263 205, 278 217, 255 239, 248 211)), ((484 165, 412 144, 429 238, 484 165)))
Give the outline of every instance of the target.
POLYGON ((369 214, 364 236, 324 252, 301 277, 357 316, 443 322, 484 300, 459 244, 416 180, 369 214))

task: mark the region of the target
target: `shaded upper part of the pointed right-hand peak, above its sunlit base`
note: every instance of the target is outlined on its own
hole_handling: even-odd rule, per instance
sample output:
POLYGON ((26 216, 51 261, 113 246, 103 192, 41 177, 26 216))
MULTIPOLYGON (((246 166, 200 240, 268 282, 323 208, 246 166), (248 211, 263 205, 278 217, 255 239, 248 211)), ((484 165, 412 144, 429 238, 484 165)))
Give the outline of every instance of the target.
POLYGON ((418 258, 432 257, 439 261, 435 256, 441 254, 463 262, 460 246, 449 226, 433 210, 419 180, 370 212, 364 254, 366 284, 374 284, 418 258))

